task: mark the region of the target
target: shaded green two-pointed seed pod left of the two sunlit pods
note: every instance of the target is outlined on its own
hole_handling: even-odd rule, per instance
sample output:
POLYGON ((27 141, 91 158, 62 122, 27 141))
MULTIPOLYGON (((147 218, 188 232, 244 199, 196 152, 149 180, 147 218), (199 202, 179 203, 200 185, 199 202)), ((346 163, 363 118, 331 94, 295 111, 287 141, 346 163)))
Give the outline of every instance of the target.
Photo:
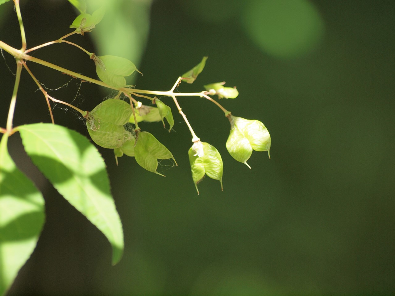
POLYGON ((177 165, 173 154, 152 134, 147 131, 141 131, 137 135, 137 141, 134 146, 134 158, 141 167, 164 176, 156 171, 158 168, 157 159, 173 159, 177 165))

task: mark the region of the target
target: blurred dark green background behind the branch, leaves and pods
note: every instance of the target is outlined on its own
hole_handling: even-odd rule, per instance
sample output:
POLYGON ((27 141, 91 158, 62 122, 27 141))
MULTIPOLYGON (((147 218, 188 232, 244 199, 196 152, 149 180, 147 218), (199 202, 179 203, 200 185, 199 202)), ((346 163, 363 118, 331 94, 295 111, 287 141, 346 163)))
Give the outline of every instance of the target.
MULTIPOLYGON (((70 32, 76 16, 64 0, 21 1, 28 48, 70 32)), ((271 160, 228 154, 229 122, 207 100, 179 99, 202 141, 224 161, 224 191, 205 178, 196 194, 187 151, 190 133, 141 124, 179 167, 166 178, 99 149, 108 166, 125 232, 122 261, 111 266, 104 236, 60 197, 9 139, 18 166, 43 191, 47 222, 37 248, 8 295, 393 295, 395 155, 393 1, 114 0, 85 37, 88 51, 124 56, 143 76, 140 89, 168 90, 209 56, 192 85, 236 85, 221 100, 233 115, 258 119, 272 137, 271 160)), ((12 1, 0 6, 0 39, 20 46, 12 1)), ((96 77, 87 56, 67 44, 33 53, 96 77)), ((0 126, 11 97, 13 58, 0 61, 0 126)), ((70 77, 31 64, 55 89, 70 77)), ((25 71, 24 71, 25 72, 25 71)), ((23 73, 15 125, 50 122, 45 100, 23 73)), ((108 94, 71 79, 51 93, 91 110, 108 94)), ((87 135, 74 112, 56 105, 55 122, 87 135)))

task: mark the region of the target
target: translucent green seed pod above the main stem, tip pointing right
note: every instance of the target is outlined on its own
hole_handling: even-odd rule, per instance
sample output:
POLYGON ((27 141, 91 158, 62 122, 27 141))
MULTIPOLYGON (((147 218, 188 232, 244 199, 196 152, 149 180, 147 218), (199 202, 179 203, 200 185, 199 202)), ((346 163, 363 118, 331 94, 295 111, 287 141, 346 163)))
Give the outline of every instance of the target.
POLYGON ((92 54, 90 58, 96 64, 98 77, 103 82, 116 88, 125 87, 125 77, 132 75, 134 71, 141 73, 130 60, 120 56, 96 56, 92 54))

